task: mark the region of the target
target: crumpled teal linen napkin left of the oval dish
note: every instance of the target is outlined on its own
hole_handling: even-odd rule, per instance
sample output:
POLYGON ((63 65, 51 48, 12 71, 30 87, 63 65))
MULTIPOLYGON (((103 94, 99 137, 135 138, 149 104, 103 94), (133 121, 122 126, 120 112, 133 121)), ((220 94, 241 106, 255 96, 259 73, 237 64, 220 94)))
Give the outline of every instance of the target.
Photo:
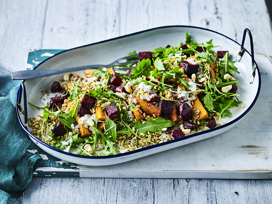
POLYGON ((13 105, 20 82, 11 80, 11 72, 0 66, 0 204, 14 203, 21 196, 42 161, 40 155, 26 151, 31 140, 13 105))

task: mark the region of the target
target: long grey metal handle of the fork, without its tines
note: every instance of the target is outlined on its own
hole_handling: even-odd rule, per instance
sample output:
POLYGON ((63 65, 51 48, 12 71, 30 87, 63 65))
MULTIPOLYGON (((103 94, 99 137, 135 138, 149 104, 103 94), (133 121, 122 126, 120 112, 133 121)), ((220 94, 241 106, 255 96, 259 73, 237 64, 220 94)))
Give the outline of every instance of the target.
POLYGON ((94 64, 94 65, 84 65, 84 66, 74 66, 68 68, 60 69, 48 69, 48 70, 23 70, 11 73, 11 78, 13 80, 27 80, 27 79, 37 79, 44 76, 51 76, 55 74, 61 74, 65 72, 88 70, 88 69, 99 69, 107 65, 94 64))

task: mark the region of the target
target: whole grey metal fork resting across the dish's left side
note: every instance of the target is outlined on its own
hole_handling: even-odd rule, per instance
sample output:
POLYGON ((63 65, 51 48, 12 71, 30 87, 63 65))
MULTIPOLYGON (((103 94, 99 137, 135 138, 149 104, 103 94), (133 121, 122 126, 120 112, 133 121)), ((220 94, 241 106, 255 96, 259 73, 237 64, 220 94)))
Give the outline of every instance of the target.
POLYGON ((27 80, 27 79, 36 79, 41 78, 45 76, 51 76, 55 74, 65 73, 65 72, 72 72, 72 71, 79 71, 79 70, 88 70, 88 69, 99 69, 101 67, 113 67, 113 70, 129 70, 132 67, 136 66, 130 66, 130 67, 114 67, 114 66, 123 66, 127 64, 135 64, 138 63, 139 60, 134 61, 128 61, 128 62, 120 62, 122 60, 132 58, 132 57, 138 57, 138 54, 122 57, 118 60, 115 60, 113 63, 102 65, 102 64, 94 64, 94 65, 84 65, 84 66, 74 66, 74 67, 68 67, 68 68, 60 68, 60 69, 48 69, 48 70, 23 70, 23 71, 17 71, 11 73, 11 78, 13 80, 27 80))

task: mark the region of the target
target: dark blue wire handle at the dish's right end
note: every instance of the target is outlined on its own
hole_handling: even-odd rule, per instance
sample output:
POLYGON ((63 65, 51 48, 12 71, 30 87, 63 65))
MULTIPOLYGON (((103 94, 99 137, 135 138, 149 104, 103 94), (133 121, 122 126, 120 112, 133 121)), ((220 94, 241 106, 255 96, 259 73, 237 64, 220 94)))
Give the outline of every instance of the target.
POLYGON ((246 34, 248 33, 249 35, 249 40, 250 40, 250 49, 251 49, 251 62, 252 62, 252 76, 251 76, 251 80, 250 80, 250 83, 253 83, 253 80, 255 78, 255 70, 256 70, 256 66, 255 66, 255 63, 254 63, 254 48, 253 48, 253 38, 252 38, 252 34, 250 32, 250 30, 248 28, 245 28, 244 29, 244 35, 243 35, 243 39, 242 39, 242 44, 241 44, 241 50, 240 52, 238 53, 238 55, 240 56, 240 58, 238 59, 238 56, 236 57, 236 61, 240 61, 241 58, 243 57, 243 54, 244 54, 244 40, 245 40, 245 37, 246 37, 246 34))

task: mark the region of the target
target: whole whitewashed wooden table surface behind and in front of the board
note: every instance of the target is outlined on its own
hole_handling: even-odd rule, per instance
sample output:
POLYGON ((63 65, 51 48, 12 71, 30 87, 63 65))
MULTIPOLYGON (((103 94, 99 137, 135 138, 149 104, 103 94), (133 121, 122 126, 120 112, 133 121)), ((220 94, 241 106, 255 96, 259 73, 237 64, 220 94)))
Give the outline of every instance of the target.
MULTIPOLYGON (((69 49, 165 25, 208 28, 239 43, 244 28, 249 28, 254 51, 272 58, 271 22, 264 0, 7 0, 0 3, 0 63, 24 70, 29 49, 69 49)), ((248 40, 245 48, 250 50, 248 40)), ((269 73, 263 76, 271 80, 269 73)), ((265 106, 268 114, 270 103, 265 106)), ((254 120, 254 115, 249 116, 254 120)), ((270 134, 271 117, 265 125, 265 130, 253 130, 270 134)), ((16 203, 270 203, 271 188, 271 180, 186 175, 180 179, 34 178, 16 203)))

